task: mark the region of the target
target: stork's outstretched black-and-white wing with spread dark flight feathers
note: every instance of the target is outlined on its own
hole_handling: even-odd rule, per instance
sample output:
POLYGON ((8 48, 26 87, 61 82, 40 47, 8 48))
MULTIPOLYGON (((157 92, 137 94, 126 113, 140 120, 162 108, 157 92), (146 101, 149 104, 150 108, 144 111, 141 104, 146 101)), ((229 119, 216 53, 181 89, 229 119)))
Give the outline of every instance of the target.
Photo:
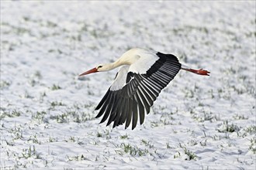
MULTIPOLYGON (((150 66, 146 73, 139 73, 131 66, 122 66, 116 75, 116 79, 100 101, 95 110, 99 110, 96 117, 102 117, 102 122, 109 117, 107 125, 114 122, 113 128, 126 123, 129 127, 132 121, 132 129, 144 123, 145 114, 150 112, 150 107, 164 87, 173 80, 181 69, 176 56, 171 54, 156 53, 157 60, 150 66), (136 73, 137 72, 137 73, 136 73)), ((141 61, 137 61, 138 64, 141 61)), ((143 63, 140 63, 143 66, 143 63)))

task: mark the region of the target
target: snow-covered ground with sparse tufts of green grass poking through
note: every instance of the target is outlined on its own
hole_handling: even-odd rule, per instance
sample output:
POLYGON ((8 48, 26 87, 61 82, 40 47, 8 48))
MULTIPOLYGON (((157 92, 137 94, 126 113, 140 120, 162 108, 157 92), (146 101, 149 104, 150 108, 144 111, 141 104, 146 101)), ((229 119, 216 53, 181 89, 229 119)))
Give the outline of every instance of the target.
POLYGON ((1 1, 1 169, 254 169, 255 2, 1 1), (135 130, 94 111, 127 49, 180 71, 135 130))

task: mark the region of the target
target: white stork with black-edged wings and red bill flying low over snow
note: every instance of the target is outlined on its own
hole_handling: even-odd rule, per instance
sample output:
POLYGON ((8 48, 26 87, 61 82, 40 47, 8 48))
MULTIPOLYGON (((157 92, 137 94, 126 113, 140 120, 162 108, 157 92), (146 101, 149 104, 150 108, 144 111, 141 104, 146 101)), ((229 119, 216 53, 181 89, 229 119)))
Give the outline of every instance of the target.
POLYGON ((100 123, 109 117, 106 125, 113 121, 113 128, 125 122, 127 128, 133 121, 132 129, 134 129, 138 117, 140 124, 143 124, 145 114, 150 112, 154 100, 179 70, 209 76, 207 70, 193 70, 182 65, 172 54, 139 48, 130 49, 114 63, 99 64, 79 76, 112 70, 118 66, 120 68, 114 82, 95 108, 95 110, 100 109, 96 117, 104 115, 100 123))

